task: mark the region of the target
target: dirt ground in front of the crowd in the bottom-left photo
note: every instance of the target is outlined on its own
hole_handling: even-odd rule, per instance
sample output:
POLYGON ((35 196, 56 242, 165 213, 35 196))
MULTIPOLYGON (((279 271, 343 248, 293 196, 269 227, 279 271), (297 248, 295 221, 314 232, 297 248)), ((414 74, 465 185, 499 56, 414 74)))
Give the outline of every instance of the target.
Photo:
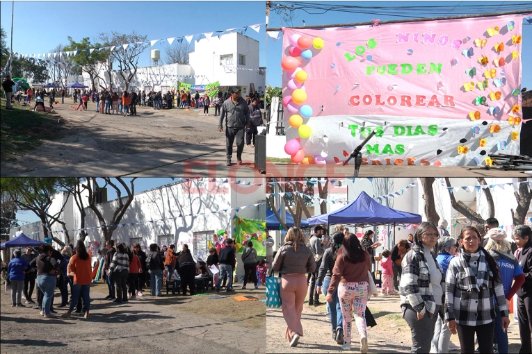
MULTIPOLYGON (((90 289, 89 319, 74 315, 45 319, 31 307, 10 307, 10 291, 4 292, 2 285, 0 353, 265 353, 264 302, 233 299, 264 298, 264 287, 240 287, 236 284, 236 292, 227 298, 209 299, 225 292, 201 296, 170 292, 117 305, 104 300, 107 287, 97 284, 90 289)), ((56 291, 54 303, 60 302, 56 291)), ((66 308, 56 310, 62 314, 66 308)))

